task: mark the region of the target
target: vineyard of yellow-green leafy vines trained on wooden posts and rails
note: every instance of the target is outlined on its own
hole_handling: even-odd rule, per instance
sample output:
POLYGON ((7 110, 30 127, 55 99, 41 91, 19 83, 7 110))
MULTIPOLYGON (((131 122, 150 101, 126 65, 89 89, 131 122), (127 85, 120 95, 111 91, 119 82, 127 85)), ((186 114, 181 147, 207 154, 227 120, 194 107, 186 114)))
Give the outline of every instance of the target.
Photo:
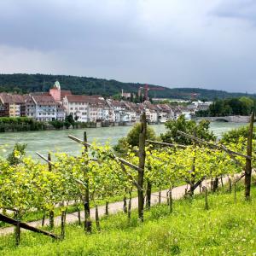
MULTIPOLYGON (((229 188, 236 197, 236 184, 244 177, 244 196, 251 195, 251 176, 255 168, 255 146, 253 121, 248 127, 248 136, 240 137, 234 143, 204 141, 196 134, 177 131, 191 144, 148 141, 146 138, 146 117, 142 115, 138 147, 129 148, 125 155, 117 155, 110 145, 87 143, 84 139, 70 137, 70 143, 83 145, 79 156, 38 153, 42 161, 24 157, 17 151, 17 163, 0 159, 0 221, 15 225, 15 243, 20 244, 20 229, 32 230, 42 236, 51 236, 57 241, 65 240, 66 214, 70 205, 78 212, 78 229, 84 229, 84 236, 94 230, 101 230, 98 206, 104 201, 108 216, 108 203, 113 197, 123 198, 123 210, 131 222, 131 198, 137 193, 137 218, 143 224, 151 206, 152 191, 159 191, 166 198, 168 212, 172 214, 172 190, 180 184, 187 184, 185 197, 192 201, 195 189, 200 188, 204 196, 204 208, 209 209, 208 194, 218 190, 223 178, 228 177, 229 188), (210 184, 210 185, 208 185, 210 184), (166 195, 160 191, 167 189, 166 195), (211 190, 211 191, 209 191, 211 190), (90 207, 95 206, 92 218, 90 207), (55 227, 55 208, 61 209, 61 229, 55 227), (23 222, 27 212, 44 212, 42 228, 33 228, 23 222), (81 213, 84 212, 84 216, 81 213), (49 216, 49 227, 44 219, 49 216), (82 223, 82 219, 84 220, 82 223), (55 231, 58 230, 58 233, 55 231)), ((114 217, 112 217, 114 218, 114 217)))

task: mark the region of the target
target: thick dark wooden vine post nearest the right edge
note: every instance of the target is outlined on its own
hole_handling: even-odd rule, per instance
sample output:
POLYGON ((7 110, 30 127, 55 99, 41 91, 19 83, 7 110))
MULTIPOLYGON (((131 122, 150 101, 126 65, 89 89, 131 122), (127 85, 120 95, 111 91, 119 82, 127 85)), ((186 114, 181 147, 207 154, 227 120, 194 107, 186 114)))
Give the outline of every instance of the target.
POLYGON ((245 169, 245 199, 250 199, 250 190, 251 190, 251 179, 252 179, 252 151, 253 151, 253 122, 254 122, 254 111, 251 115, 250 125, 248 128, 248 137, 247 137, 247 156, 246 159, 246 169, 245 169))

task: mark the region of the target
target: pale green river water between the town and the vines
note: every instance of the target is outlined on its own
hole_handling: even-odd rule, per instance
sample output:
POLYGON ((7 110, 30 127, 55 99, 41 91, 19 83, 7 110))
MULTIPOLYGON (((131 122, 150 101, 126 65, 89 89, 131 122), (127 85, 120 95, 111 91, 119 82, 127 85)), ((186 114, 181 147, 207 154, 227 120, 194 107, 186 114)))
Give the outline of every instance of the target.
MULTIPOLYGON (((242 123, 226 123, 226 122, 212 122, 210 127, 213 133, 221 137, 225 131, 245 125, 242 123)), ((166 131, 165 125, 149 125, 154 129, 157 135, 166 131)), ((61 131, 20 131, 20 132, 6 132, 0 134, 0 154, 8 154, 15 143, 26 143, 27 155, 37 157, 35 152, 40 152, 46 155, 51 152, 66 152, 67 154, 80 154, 82 146, 79 143, 73 142, 67 135, 73 135, 83 139, 84 131, 87 132, 88 142, 97 141, 98 143, 109 142, 112 145, 117 143, 120 137, 124 137, 131 126, 114 126, 102 128, 87 128, 78 130, 61 130, 61 131)))

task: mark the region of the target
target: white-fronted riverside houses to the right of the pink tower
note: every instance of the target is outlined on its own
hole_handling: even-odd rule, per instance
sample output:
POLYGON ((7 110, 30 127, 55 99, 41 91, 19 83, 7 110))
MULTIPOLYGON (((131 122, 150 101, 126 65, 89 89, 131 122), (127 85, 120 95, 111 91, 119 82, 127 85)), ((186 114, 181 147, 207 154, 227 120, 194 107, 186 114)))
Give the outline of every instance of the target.
POLYGON ((167 104, 153 105, 150 102, 136 104, 133 102, 104 99, 101 96, 74 96, 63 98, 63 107, 67 114, 81 122, 108 121, 116 123, 138 122, 144 110, 148 122, 164 123, 168 119, 177 118, 180 109, 167 104))

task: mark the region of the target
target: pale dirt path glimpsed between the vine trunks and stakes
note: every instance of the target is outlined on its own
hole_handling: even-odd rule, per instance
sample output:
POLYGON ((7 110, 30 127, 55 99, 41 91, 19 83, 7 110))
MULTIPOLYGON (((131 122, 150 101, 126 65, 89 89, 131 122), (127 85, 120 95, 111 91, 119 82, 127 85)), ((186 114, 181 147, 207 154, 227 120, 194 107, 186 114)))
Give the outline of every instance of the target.
MULTIPOLYGON (((227 183, 228 182, 228 177, 223 177, 223 182, 227 183)), ((207 186, 209 186, 210 181, 207 181, 207 186)), ((203 185, 206 185, 206 182, 203 182, 203 185)), ((183 197, 183 195, 185 194, 185 189, 187 188, 187 185, 183 185, 183 186, 179 186, 176 187, 174 189, 172 189, 172 198, 174 200, 180 199, 183 197)), ((161 202, 166 202, 166 192, 167 190, 162 190, 161 191, 161 202)), ((199 194, 199 188, 195 189, 195 194, 199 194)), ((155 205, 158 203, 158 192, 154 192, 151 194, 151 205, 155 205)), ((136 209, 137 208, 137 197, 132 198, 131 200, 131 209, 136 209)), ((108 212, 109 214, 115 214, 117 212, 121 212, 123 211, 123 201, 117 201, 117 202, 113 202, 113 203, 109 203, 108 204, 108 212)), ((103 216, 105 214, 105 206, 100 206, 98 207, 98 212, 99 212, 99 216, 103 216)), ((90 216, 92 219, 95 218, 95 208, 91 208, 90 209, 90 216)), ((84 211, 81 211, 81 219, 83 220, 84 218, 84 211)), ((78 212, 73 212, 73 213, 67 213, 67 218, 66 218, 67 224, 73 224, 75 222, 78 221, 78 212)), ((27 224, 33 226, 33 227, 40 227, 41 226, 42 221, 41 220, 37 220, 37 221, 32 221, 29 222, 27 224)), ((49 218, 45 219, 45 225, 49 224, 49 218)), ((58 226, 61 224, 61 216, 58 216, 55 218, 55 225, 58 226)), ((14 227, 7 227, 7 228, 2 228, 0 229, 0 236, 3 235, 8 235, 10 233, 14 232, 14 227)), ((25 231, 25 230, 22 230, 25 231)))

